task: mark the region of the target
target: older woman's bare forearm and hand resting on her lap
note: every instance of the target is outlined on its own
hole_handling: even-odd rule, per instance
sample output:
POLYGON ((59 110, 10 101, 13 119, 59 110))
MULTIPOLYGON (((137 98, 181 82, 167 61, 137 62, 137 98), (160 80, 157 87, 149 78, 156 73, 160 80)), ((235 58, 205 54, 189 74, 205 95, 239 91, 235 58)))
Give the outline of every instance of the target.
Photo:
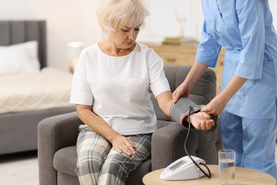
POLYGON ((127 137, 121 136, 110 127, 101 117, 92 112, 92 105, 76 105, 78 117, 94 132, 112 143, 114 149, 129 157, 134 157, 134 143, 127 137))

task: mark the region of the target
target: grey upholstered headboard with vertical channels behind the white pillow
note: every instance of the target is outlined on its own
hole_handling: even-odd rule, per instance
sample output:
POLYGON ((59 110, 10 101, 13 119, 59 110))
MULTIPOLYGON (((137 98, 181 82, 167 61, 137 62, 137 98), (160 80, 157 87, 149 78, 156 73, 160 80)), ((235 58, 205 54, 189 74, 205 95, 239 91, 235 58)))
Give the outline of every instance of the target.
POLYGON ((0 21, 0 46, 38 41, 40 68, 47 65, 46 21, 0 21))

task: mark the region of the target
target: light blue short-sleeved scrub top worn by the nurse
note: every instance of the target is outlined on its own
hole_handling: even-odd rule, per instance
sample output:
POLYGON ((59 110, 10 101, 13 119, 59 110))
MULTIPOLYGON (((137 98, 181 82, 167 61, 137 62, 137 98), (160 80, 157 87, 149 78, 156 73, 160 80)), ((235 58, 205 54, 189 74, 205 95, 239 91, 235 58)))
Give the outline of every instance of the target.
POLYGON ((276 117, 277 36, 268 0, 202 0, 202 11, 195 61, 215 67, 224 47, 222 90, 234 75, 249 79, 225 110, 249 119, 276 117))

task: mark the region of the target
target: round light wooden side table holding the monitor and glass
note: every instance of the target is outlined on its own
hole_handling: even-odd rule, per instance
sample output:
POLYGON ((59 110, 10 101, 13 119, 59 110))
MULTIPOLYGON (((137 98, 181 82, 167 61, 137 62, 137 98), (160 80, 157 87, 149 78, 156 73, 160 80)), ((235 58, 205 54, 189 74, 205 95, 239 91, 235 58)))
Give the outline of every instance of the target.
MULTIPOLYGON (((193 184, 193 185, 208 185, 208 184, 219 184, 219 170, 218 165, 207 165, 212 173, 212 178, 209 179, 206 176, 200 179, 184 180, 184 181, 164 181, 160 179, 160 174, 163 169, 151 171, 150 173, 143 176, 143 183, 146 185, 165 185, 165 184, 193 184)), ((236 166, 235 171, 235 184, 271 184, 275 185, 276 181, 273 176, 268 175, 261 171, 254 169, 246 169, 236 166)))

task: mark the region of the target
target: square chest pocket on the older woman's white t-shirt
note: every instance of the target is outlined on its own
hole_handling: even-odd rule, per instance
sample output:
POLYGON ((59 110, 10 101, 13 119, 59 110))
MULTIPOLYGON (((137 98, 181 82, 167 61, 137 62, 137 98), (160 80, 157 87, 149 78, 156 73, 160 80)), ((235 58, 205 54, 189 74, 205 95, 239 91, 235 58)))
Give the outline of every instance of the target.
POLYGON ((125 79, 125 100, 145 100, 148 93, 148 88, 149 81, 147 78, 125 79))

